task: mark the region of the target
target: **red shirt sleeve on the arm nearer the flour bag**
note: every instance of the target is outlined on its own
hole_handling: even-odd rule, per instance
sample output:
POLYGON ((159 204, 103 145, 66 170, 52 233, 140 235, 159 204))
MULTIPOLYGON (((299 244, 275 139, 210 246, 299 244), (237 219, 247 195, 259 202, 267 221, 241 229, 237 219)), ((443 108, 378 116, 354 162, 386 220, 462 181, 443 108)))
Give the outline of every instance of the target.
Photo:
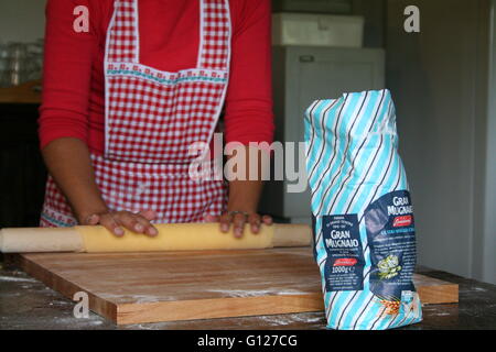
POLYGON ((269 0, 238 1, 226 96, 226 142, 273 140, 269 0))

